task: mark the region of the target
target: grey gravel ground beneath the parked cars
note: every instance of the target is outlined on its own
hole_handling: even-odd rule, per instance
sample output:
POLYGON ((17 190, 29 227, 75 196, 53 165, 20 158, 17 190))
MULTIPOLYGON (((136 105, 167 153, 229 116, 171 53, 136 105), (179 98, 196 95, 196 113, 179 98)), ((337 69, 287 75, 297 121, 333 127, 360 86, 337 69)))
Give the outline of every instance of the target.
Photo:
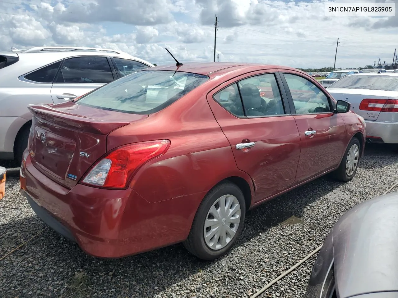
MULTIPOLYGON (((351 182, 320 178, 250 211, 232 252, 213 263, 195 259, 181 244, 124 259, 98 259, 46 229, 0 261, 0 296, 250 297, 321 245, 345 211, 381 195, 396 180, 398 153, 368 145, 351 182)), ((0 209, 1 257, 45 224, 21 196, 17 178, 8 178, 0 207, 21 208, 0 209)), ((302 297, 315 257, 261 297, 302 297)))

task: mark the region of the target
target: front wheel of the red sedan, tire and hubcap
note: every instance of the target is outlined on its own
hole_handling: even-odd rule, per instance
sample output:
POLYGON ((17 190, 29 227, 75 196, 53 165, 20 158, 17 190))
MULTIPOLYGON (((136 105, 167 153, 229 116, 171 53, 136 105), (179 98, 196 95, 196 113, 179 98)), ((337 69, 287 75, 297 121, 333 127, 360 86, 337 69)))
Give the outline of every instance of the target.
POLYGON ((334 172, 334 178, 338 181, 347 182, 354 178, 357 172, 359 157, 361 156, 361 144, 356 137, 351 139, 344 153, 338 169, 334 172))

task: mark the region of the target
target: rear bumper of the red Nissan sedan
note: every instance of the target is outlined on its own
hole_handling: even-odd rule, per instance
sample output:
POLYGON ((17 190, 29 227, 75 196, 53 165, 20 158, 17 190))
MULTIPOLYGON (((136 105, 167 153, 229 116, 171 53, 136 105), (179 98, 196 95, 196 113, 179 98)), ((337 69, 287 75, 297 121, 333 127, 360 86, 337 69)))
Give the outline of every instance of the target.
POLYGON ((179 212, 191 196, 149 203, 131 188, 103 190, 77 184, 64 188, 47 178, 27 157, 21 191, 33 211, 84 252, 117 258, 185 240, 190 215, 179 212))

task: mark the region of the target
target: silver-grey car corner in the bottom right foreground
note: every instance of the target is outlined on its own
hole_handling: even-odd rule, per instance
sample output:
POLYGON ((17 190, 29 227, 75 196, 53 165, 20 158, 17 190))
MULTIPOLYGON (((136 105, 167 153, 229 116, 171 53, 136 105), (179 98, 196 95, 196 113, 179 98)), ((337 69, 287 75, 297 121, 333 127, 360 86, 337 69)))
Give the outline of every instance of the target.
POLYGON ((398 193, 369 199, 334 225, 304 298, 396 298, 398 193))

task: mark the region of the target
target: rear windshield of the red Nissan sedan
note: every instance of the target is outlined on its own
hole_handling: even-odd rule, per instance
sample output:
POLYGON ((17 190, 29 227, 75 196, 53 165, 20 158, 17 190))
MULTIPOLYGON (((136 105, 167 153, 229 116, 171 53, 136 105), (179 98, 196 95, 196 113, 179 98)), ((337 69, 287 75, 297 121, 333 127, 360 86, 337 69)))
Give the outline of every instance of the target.
POLYGON ((76 103, 132 114, 158 112, 192 91, 209 77, 187 72, 142 70, 113 81, 76 103))

